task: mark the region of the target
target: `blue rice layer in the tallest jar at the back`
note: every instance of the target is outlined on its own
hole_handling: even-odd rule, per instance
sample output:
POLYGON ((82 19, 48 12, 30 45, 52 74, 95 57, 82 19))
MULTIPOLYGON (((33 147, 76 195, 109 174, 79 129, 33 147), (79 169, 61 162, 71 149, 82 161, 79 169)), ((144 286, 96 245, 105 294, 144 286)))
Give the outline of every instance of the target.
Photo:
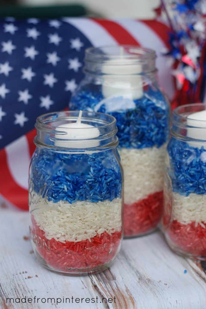
MULTIPOLYGON (((103 99, 100 86, 88 87, 86 85, 71 98, 70 110, 91 111, 103 99)), ((122 99, 124 98, 122 97, 122 99)), ((114 104, 115 100, 114 98, 114 104)), ((134 103, 135 109, 110 113, 117 120, 119 146, 139 149, 162 146, 167 142, 169 134, 169 109, 164 96, 160 91, 154 91, 148 87, 148 91, 144 93, 143 97, 134 100, 134 103)), ((106 112, 104 104, 101 105, 98 112, 106 112)))

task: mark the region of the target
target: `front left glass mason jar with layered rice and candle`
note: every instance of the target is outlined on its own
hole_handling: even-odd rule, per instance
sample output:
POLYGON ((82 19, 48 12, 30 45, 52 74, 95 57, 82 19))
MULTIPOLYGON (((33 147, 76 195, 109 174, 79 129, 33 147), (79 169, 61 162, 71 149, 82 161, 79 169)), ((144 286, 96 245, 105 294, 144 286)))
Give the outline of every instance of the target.
POLYGON ((30 236, 52 271, 107 269, 122 241, 123 171, 114 117, 55 112, 37 118, 29 171, 30 236), (77 122, 75 122, 77 121, 77 122))

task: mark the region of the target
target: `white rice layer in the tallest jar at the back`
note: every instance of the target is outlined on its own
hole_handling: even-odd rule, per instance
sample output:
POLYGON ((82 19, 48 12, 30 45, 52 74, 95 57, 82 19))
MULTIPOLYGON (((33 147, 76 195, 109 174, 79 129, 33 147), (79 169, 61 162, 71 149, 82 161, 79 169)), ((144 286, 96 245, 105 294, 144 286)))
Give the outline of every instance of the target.
POLYGON ((166 144, 160 148, 121 148, 124 169, 124 202, 132 204, 163 190, 166 144))

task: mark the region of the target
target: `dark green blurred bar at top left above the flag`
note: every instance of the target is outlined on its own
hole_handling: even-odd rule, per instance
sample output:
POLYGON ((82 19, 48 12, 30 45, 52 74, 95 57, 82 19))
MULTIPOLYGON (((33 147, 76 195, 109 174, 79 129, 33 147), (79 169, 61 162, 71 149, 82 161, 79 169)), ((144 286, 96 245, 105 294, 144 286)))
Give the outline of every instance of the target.
POLYGON ((87 14, 82 5, 59 5, 59 6, 1 6, 0 17, 24 18, 60 18, 64 16, 75 17, 87 14))

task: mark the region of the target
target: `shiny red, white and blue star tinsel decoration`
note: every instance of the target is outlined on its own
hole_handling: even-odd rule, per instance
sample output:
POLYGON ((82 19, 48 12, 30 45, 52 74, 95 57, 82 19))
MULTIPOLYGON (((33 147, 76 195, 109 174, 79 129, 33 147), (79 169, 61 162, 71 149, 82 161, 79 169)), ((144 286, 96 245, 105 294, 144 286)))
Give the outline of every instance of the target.
POLYGON ((206 1, 161 0, 161 11, 170 26, 170 48, 176 78, 172 108, 206 102, 206 1))

